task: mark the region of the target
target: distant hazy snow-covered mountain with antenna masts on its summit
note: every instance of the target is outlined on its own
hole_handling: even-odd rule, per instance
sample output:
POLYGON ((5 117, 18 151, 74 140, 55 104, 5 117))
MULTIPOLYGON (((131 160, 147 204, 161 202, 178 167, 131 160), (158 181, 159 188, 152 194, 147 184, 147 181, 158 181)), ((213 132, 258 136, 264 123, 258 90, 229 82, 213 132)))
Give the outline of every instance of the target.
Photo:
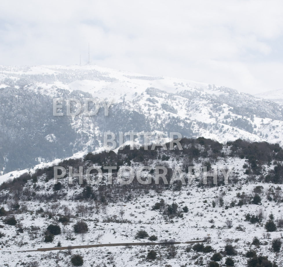
POLYGON ((0 66, 0 84, 2 173, 95 151, 106 131, 282 144, 282 107, 226 87, 95 65, 0 66), (109 116, 58 117, 54 97, 114 101, 109 116))

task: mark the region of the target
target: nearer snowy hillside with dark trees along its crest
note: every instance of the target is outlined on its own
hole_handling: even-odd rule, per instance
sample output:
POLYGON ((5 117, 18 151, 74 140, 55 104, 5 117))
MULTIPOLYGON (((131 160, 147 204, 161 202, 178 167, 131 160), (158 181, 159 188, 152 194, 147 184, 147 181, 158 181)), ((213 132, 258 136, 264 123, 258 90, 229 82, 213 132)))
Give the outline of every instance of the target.
MULTIPOLYGON (((168 144, 167 144, 168 145, 168 144)), ((84 266, 202 266, 211 257, 222 266, 232 258, 235 266, 282 266, 282 249, 272 245, 282 241, 283 150, 266 142, 211 139, 182 139, 182 150, 145 150, 143 147, 100 153, 58 162, 66 175, 54 184, 53 166, 35 169, 0 186, 0 242, 3 266, 70 266, 71 257, 80 254, 84 266), (74 177, 70 184, 68 167, 78 173, 83 166, 83 183, 74 177), (90 166, 116 166, 112 183, 103 170, 98 184, 86 179, 90 166), (155 181, 155 166, 167 168, 169 182, 180 167, 185 184, 176 179, 165 184, 155 181), (190 175, 189 166, 195 168, 190 175), (197 169, 218 168, 217 183, 197 169), (134 170, 134 180, 121 184, 117 171, 134 170), (233 168, 225 184, 223 173, 233 168), (192 183, 189 180, 192 179, 192 183), (79 227, 78 222, 80 225, 79 227), (51 225, 51 226, 50 226, 51 225), (86 226, 85 226, 86 225, 86 226), (268 225, 268 226, 266 226, 268 225), (270 228, 270 226, 275 228, 270 228), (87 227, 87 228, 86 228, 87 227), (85 229, 83 231, 82 229, 85 229), (201 245, 126 246, 75 249, 50 252, 17 252, 61 246, 132 243, 155 240, 203 240, 201 245), (275 241, 274 241, 275 240, 275 241), (154 251, 156 255, 150 251, 154 251), (216 254, 215 253, 220 253, 216 254), (155 255, 155 259, 152 255, 155 255), (262 256, 267 256, 264 259, 262 256), (218 261, 219 260, 219 261, 218 261)), ((151 148, 151 146, 149 147, 151 148)), ((92 172, 91 172, 92 173, 92 172)), ((59 173, 60 174, 60 173, 59 173)), ((181 175, 176 176, 181 179, 181 175)), ((97 172, 91 181, 98 179, 97 172)), ((123 181, 129 176, 125 174, 123 181)), ((226 264, 227 265, 227 264, 226 264)), ((217 265, 215 265, 217 266, 217 265)))

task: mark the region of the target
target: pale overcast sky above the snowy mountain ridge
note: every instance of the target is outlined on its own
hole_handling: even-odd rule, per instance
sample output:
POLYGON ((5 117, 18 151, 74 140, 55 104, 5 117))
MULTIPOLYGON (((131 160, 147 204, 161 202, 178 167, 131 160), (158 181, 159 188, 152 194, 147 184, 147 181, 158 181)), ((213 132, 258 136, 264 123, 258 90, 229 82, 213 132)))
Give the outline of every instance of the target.
POLYGON ((1 1, 1 65, 96 65, 283 88, 283 1, 1 1))

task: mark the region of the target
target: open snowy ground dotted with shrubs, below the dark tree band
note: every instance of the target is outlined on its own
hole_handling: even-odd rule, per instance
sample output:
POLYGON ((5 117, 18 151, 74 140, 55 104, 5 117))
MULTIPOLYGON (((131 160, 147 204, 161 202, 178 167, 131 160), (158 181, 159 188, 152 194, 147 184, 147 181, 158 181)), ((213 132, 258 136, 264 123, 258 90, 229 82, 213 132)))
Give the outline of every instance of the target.
MULTIPOLYGON (((282 266, 282 254, 271 251, 271 240, 282 237, 283 229, 270 233, 269 239, 263 236, 264 233, 266 234, 264 224, 268 220, 268 216, 272 213, 275 220, 282 216, 283 203, 269 201, 266 198, 268 192, 274 191, 277 186, 259 183, 256 181, 256 177, 243 174, 244 169, 242 166, 244 163, 245 159, 237 158, 228 158, 225 161, 220 160, 217 162, 218 166, 234 166, 234 175, 238 173, 239 178, 237 183, 230 181, 226 186, 209 188, 199 187, 198 183, 193 181, 192 185, 183 186, 180 191, 172 189, 163 192, 154 190, 133 191, 129 192, 129 200, 118 201, 117 203, 109 202, 104 206, 105 208, 101 203, 96 205, 88 200, 76 200, 76 195, 82 191, 82 188, 77 184, 72 187, 67 186, 67 184, 64 185, 64 183, 67 183, 67 178, 61 181, 65 186, 63 192, 66 195, 61 196, 57 201, 29 201, 28 195, 32 194, 32 192, 46 193, 47 195, 53 192, 53 181, 46 182, 44 176, 39 178, 36 184, 29 181, 25 188, 29 188, 30 192, 23 190, 27 194, 26 201, 20 201, 19 203, 21 205, 20 210, 23 211, 16 212, 15 215, 16 220, 20 222, 23 233, 19 231, 19 226, 2 224, 3 228, 0 229, 1 233, 5 234, 1 238, 1 266, 21 266, 34 261, 37 261, 39 266, 71 266, 71 256, 67 254, 67 250, 50 252, 17 251, 54 247, 58 241, 61 242, 61 246, 148 241, 147 239, 135 239, 138 230, 145 230, 149 236, 156 235, 158 237, 156 242, 164 239, 185 242, 210 237, 209 244, 205 245, 212 246, 216 252, 224 250, 227 242, 231 243, 237 251, 237 255, 233 256, 235 266, 246 266, 247 258, 244 257, 244 254, 249 249, 256 249, 258 254, 266 255, 269 260, 275 260, 278 266, 282 266), (242 194, 244 192, 247 195, 253 195, 256 186, 262 186, 260 193, 261 204, 231 206, 232 201, 235 201, 235 203, 239 201, 237 193, 242 194), (224 200, 222 207, 218 201, 219 197, 224 200), (165 204, 175 202, 178 204, 179 210, 185 206, 189 210, 182 213, 183 217, 177 216, 169 219, 162 212, 152 210, 152 206, 161 199, 164 199, 165 204), (212 207, 212 201, 216 202, 215 207, 212 207), (81 211, 80 205, 87 206, 87 211, 83 216, 79 214, 81 211), (64 207, 69 208, 72 212, 70 223, 66 226, 58 222, 60 214, 64 214, 64 207), (40 208, 42 208, 41 211, 40 208), (107 218, 121 220, 121 209, 124 211, 123 222, 106 222, 107 218), (247 213, 258 214, 260 209, 264 215, 261 223, 251 224, 244 220, 247 213), (53 214, 52 217, 48 217, 43 211, 49 211, 53 214), (72 226, 81 219, 87 223, 89 228, 88 233, 83 237, 80 234, 74 234, 72 230, 72 226), (233 226, 231 228, 227 227, 227 219, 232 220, 233 226), (46 227, 52 223, 61 226, 61 234, 55 235, 52 242, 45 243, 43 241, 44 232, 46 227), (31 238, 29 234, 30 226, 40 227, 36 238, 31 238), (98 236, 100 237, 96 240, 98 236), (260 239, 260 246, 251 245, 254 237, 260 239)), ((174 162, 168 162, 168 164, 174 164, 174 162)), ((264 166, 264 173, 267 173, 271 167, 264 166)), ((6 210, 9 209, 8 205, 3 205, 6 210)), ((204 265, 207 265, 214 253, 197 253, 193 250, 188 252, 186 250, 188 245, 185 244, 175 245, 175 247, 177 254, 171 259, 167 259, 166 256, 167 246, 77 249, 72 250, 72 255, 76 253, 82 255, 84 259, 83 266, 123 266, 125 264, 127 266, 166 266, 165 264, 167 266, 186 266, 185 264, 200 266, 201 257, 204 265), (146 260, 149 250, 155 250, 158 259, 155 261, 146 260), (200 261, 197 262, 198 260, 200 261)), ((220 263, 224 264, 225 258, 224 256, 220 263)))

